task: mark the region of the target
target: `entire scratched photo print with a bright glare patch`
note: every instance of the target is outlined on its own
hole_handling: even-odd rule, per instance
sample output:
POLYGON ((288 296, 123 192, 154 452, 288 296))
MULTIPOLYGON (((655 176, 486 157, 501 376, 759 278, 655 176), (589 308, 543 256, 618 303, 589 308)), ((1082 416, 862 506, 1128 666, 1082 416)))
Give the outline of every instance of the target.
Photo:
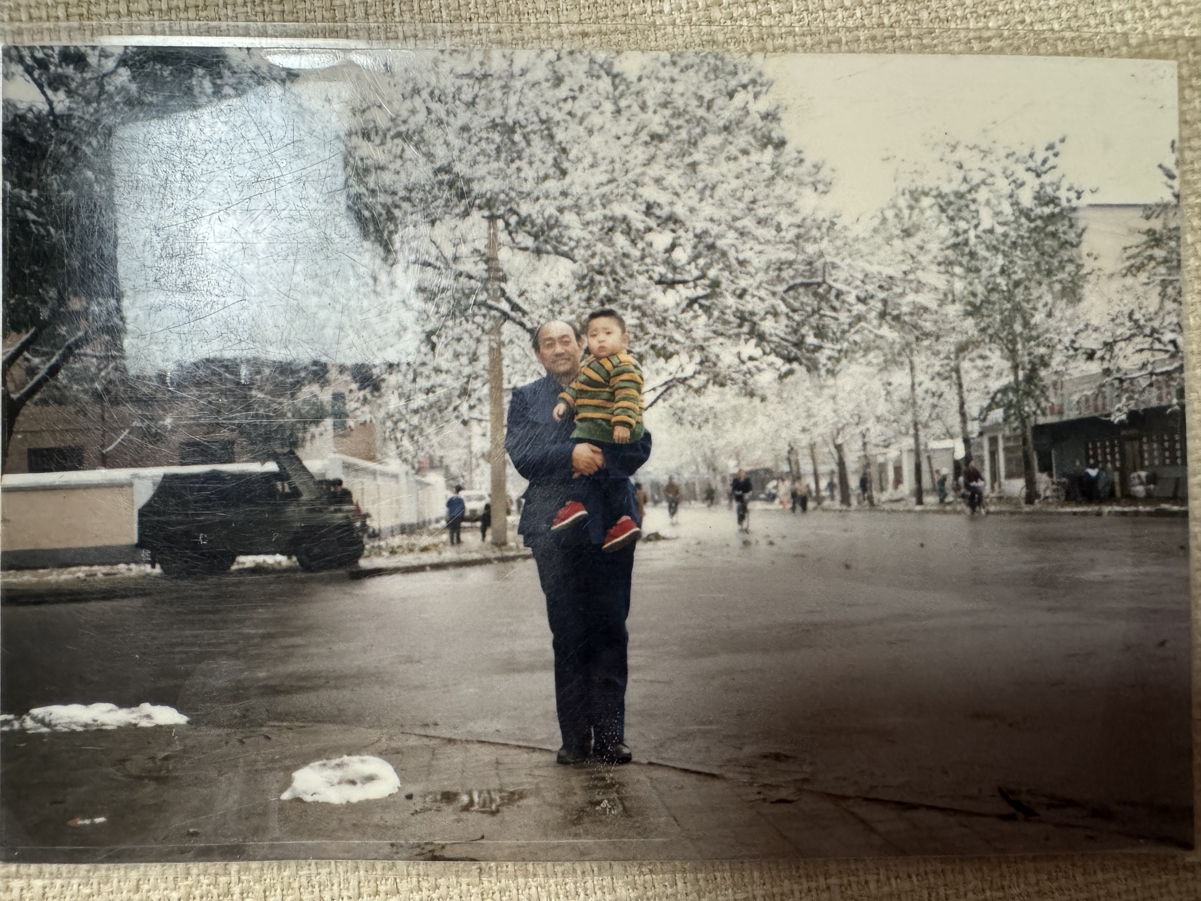
POLYGON ((5 48, 2 859, 1190 848, 1176 78, 5 48))

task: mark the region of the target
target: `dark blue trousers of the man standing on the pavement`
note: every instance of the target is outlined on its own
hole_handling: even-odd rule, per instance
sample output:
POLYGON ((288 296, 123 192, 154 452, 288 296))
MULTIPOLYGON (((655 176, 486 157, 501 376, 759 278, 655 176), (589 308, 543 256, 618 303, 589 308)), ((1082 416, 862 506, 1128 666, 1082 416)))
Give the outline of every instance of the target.
POLYGON ((555 649, 555 709, 563 746, 587 753, 626 736, 626 617, 634 548, 616 554, 533 548, 555 649))

